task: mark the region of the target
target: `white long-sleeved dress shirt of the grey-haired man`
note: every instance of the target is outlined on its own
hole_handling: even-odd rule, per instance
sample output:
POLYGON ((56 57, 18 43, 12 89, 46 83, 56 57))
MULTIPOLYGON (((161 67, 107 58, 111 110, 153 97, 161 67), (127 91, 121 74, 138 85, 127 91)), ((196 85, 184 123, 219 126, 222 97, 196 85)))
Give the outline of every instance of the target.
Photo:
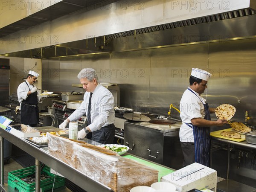
MULTIPOLYGON (((76 121, 82 115, 87 115, 90 92, 84 93, 84 101, 80 107, 72 113, 68 119, 76 121)), ((88 126, 91 131, 97 131, 102 127, 115 122, 115 101, 112 93, 101 84, 98 84, 93 91, 91 98, 91 124, 88 126)))

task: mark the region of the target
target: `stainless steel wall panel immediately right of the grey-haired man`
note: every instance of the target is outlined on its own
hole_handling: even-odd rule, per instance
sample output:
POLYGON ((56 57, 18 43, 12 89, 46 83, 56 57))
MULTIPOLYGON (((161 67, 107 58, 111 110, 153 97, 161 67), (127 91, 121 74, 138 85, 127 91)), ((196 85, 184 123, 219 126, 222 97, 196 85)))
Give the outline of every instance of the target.
POLYGON ((119 84, 120 105, 148 111, 150 50, 111 54, 111 82, 119 84))

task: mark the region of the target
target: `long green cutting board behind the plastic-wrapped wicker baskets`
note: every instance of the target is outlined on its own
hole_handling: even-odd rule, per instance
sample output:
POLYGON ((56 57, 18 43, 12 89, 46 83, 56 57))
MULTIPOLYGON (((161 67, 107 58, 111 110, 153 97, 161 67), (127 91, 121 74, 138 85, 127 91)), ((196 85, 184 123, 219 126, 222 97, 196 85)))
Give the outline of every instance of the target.
POLYGON ((143 159, 131 156, 131 155, 125 155, 125 156, 122 156, 122 157, 125 157, 125 158, 128 158, 128 159, 132 159, 132 160, 137 161, 138 163, 141 163, 141 164, 143 164, 145 166, 148 166, 150 168, 156 169, 157 171, 159 171, 159 173, 158 173, 158 181, 161 180, 161 177, 174 172, 172 169, 168 169, 166 167, 159 166, 159 165, 157 165, 155 163, 151 163, 151 162, 148 162, 146 160, 143 160, 143 159))

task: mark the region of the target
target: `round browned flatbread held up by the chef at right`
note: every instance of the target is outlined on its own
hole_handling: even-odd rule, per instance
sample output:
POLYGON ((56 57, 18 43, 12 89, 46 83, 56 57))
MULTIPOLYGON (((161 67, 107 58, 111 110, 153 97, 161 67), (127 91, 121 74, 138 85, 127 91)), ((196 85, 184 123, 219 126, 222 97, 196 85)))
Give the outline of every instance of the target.
POLYGON ((215 109, 215 115, 218 119, 230 120, 236 113, 236 108, 229 104, 223 104, 215 109))

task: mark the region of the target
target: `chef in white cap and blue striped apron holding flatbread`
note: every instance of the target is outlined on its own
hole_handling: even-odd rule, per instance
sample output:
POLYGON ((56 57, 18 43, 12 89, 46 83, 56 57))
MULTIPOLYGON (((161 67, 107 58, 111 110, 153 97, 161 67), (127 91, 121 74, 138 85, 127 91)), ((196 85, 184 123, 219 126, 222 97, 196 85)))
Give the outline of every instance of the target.
POLYGON ((210 113, 215 108, 209 108, 206 99, 201 94, 207 88, 207 82, 212 74, 198 68, 192 68, 189 87, 180 100, 180 144, 184 155, 183 166, 201 163, 209 166, 210 126, 222 126, 224 119, 211 121, 210 113))

